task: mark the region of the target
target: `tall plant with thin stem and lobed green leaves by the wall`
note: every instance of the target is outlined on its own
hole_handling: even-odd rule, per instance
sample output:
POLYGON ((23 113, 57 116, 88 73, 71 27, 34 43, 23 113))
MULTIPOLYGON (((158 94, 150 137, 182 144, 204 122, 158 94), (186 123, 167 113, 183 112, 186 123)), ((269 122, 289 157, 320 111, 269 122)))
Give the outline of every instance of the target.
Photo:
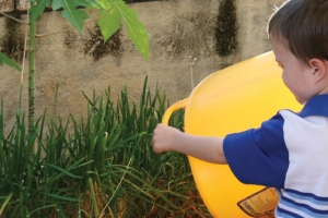
MULTIPOLYGON (((116 33, 124 21, 127 27, 129 38, 134 43, 140 53, 148 60, 149 58, 149 40, 144 25, 138 20, 136 10, 126 5, 122 0, 31 0, 30 17, 30 68, 28 68, 28 131, 32 132, 35 124, 35 51, 36 38, 45 37, 52 34, 37 35, 36 21, 47 7, 51 7, 54 11, 62 10, 61 15, 68 20, 74 28, 83 33, 87 13, 82 9, 97 10, 98 16, 93 21, 101 28, 104 41, 116 33), (82 9, 81 9, 82 8, 82 9)), ((7 15, 8 16, 8 15, 7 15)), ((14 19, 17 21, 16 19, 14 19)), ((61 33, 61 32, 60 32, 61 33)), ((0 52, 0 65, 4 63, 21 70, 20 66, 9 59, 4 53, 0 52)))

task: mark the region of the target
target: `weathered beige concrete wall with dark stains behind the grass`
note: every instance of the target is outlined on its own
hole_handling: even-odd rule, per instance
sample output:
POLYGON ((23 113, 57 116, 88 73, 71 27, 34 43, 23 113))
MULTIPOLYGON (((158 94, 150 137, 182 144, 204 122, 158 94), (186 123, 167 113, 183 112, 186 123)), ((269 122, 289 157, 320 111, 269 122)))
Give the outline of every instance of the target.
MULTIPOLYGON (((134 3, 140 21, 150 34, 150 60, 145 61, 121 28, 103 45, 95 25, 84 34, 70 31, 37 39, 36 116, 48 108, 51 114, 85 114, 86 100, 81 94, 101 95, 112 87, 113 100, 126 84, 131 100, 139 101, 145 75, 149 86, 165 90, 171 102, 189 96, 190 68, 197 85, 209 74, 242 60, 270 50, 266 25, 274 5, 282 0, 236 0, 236 48, 232 55, 218 53, 218 16, 220 5, 229 0, 168 0, 134 3), (56 87, 59 84, 55 108, 56 87)), ((95 16, 89 12, 91 19, 95 16)), ((26 19, 22 15, 20 19, 26 19)), ((44 13, 37 33, 47 34, 70 27, 60 12, 44 13)), ((0 17, 0 49, 23 63, 24 37, 27 27, 0 17)), ((24 71, 23 107, 27 111, 27 63, 24 71)), ((19 108, 21 73, 0 66, 0 99, 4 100, 5 124, 11 126, 19 108)))

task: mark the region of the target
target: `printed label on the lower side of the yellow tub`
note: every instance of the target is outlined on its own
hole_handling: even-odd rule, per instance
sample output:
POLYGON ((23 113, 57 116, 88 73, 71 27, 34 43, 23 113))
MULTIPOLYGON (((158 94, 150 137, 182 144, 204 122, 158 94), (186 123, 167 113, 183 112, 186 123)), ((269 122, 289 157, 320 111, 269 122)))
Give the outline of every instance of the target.
POLYGON ((265 187, 259 192, 242 199, 238 207, 251 217, 274 217, 274 209, 279 202, 279 191, 274 187, 265 187))

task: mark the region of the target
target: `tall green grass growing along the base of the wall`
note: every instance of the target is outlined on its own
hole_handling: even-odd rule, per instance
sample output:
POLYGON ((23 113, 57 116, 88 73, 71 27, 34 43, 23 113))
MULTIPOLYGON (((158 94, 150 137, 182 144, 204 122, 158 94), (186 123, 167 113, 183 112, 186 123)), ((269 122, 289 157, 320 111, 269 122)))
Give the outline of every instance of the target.
MULTIPOLYGON (((210 217, 187 157, 155 154, 151 138, 168 100, 144 81, 139 102, 104 96, 86 118, 45 110, 28 134, 24 112, 9 134, 0 109, 0 217, 210 217), (33 152, 33 148, 36 152, 33 152)), ((183 131, 184 111, 169 124, 183 131)))

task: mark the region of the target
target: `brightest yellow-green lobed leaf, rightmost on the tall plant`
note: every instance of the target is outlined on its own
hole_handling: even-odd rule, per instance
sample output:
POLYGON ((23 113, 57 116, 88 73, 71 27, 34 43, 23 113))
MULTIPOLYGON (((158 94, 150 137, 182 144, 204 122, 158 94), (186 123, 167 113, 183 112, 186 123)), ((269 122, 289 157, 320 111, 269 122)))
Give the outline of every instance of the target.
MULTIPOLYGON (((101 17, 98 25, 102 33, 105 33, 104 38, 109 38, 109 34, 114 34, 118 28, 118 16, 124 20, 129 38, 133 41, 140 53, 149 59, 149 35, 144 25, 138 20, 138 12, 130 9, 122 0, 97 0, 99 4, 107 11, 108 14, 101 17), (105 21, 107 24, 105 24, 105 21), (113 26, 112 26, 113 25, 113 26), (104 29, 103 29, 104 28, 104 29), (116 31, 115 31, 116 29, 116 31)), ((106 13, 106 12, 105 12, 106 13)))

